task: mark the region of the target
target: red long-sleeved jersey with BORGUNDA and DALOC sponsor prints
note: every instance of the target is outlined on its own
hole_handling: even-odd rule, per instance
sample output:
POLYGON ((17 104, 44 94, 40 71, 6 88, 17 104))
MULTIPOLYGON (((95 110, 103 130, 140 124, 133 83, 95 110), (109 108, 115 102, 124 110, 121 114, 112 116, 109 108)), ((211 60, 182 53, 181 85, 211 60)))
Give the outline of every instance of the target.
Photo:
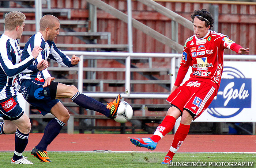
POLYGON ((201 39, 195 35, 188 38, 174 85, 180 86, 189 66, 192 66, 189 80, 209 83, 217 92, 221 82, 223 54, 226 48, 238 52, 242 47, 230 40, 228 36, 212 30, 209 30, 201 39))

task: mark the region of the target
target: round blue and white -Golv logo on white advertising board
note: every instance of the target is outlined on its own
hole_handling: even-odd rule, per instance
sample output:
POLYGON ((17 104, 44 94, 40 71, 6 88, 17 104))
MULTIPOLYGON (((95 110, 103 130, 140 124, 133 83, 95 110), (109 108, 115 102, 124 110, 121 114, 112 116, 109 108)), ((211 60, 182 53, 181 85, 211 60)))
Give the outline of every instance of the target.
POLYGON ((224 67, 217 96, 207 112, 216 118, 231 118, 244 108, 252 108, 252 78, 234 67, 224 67))

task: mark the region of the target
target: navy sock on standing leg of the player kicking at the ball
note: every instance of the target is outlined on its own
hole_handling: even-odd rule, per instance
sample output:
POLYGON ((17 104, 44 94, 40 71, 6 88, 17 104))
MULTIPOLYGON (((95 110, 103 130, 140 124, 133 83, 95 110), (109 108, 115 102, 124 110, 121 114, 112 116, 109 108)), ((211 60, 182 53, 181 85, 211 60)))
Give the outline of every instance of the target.
POLYGON ((53 118, 45 127, 44 136, 37 146, 36 149, 40 151, 46 151, 47 146, 54 140, 57 135, 59 135, 60 130, 65 125, 64 122, 58 120, 57 118, 53 118))

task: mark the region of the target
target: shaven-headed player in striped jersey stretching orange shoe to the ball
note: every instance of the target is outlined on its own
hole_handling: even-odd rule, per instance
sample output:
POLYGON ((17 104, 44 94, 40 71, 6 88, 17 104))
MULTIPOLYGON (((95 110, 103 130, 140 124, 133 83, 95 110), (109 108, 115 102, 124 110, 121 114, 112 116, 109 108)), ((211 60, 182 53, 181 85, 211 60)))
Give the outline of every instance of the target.
MULTIPOLYGON (((43 51, 40 52, 34 61, 35 65, 42 59, 48 58, 64 67, 77 65, 80 61, 78 56, 73 55, 70 59, 53 42, 57 35, 59 35, 59 19, 53 15, 45 15, 40 19, 39 24, 40 30, 31 36, 25 44, 21 59, 29 57, 34 46, 38 45, 43 48, 43 51)), ((54 78, 51 77, 47 69, 38 73, 20 74, 18 79, 19 90, 26 101, 37 108, 42 115, 51 113, 56 117, 46 125, 44 136, 31 152, 32 155, 42 162, 51 162, 46 148, 60 133, 60 130, 67 123, 70 116, 68 110, 58 100, 59 98, 71 98, 80 107, 102 113, 111 119, 116 118, 117 108, 121 100, 121 95, 119 94, 113 102, 104 105, 80 93, 75 86, 64 85, 53 80, 54 78)))

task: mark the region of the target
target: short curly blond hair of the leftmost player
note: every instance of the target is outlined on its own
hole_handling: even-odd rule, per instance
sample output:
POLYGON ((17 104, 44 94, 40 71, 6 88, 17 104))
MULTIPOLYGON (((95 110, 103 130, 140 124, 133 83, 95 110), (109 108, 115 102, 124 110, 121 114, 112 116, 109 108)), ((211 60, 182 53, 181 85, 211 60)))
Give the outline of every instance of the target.
POLYGON ((17 26, 21 26, 26 19, 26 16, 18 11, 11 11, 5 14, 4 30, 14 30, 17 26))

